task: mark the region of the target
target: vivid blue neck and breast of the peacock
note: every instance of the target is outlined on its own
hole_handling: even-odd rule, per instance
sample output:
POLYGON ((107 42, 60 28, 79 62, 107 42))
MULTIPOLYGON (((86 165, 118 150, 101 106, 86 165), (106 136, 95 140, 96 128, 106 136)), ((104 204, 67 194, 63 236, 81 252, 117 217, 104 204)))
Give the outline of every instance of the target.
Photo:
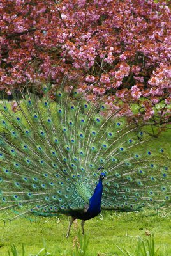
POLYGON ((94 190, 93 196, 91 196, 89 200, 89 209, 87 212, 89 214, 92 214, 92 216, 96 216, 100 213, 100 205, 101 205, 101 197, 102 197, 102 192, 103 192, 103 185, 102 185, 102 180, 99 179, 99 182, 94 190))

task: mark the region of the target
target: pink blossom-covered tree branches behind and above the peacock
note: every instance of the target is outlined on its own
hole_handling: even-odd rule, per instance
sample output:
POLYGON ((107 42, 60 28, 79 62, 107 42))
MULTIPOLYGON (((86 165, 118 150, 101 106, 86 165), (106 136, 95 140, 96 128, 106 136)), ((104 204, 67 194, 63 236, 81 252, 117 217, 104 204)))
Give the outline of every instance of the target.
POLYGON ((88 99, 152 124, 170 122, 170 1, 3 0, 0 86, 65 76, 88 99), (123 102, 123 103, 121 103, 123 102), (137 103, 133 113, 131 102, 137 103))

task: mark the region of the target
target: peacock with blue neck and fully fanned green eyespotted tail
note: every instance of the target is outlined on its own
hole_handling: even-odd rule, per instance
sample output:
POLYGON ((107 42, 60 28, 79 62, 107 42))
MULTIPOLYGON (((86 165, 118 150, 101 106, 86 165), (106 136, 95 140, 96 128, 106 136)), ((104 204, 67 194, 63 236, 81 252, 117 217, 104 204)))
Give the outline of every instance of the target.
MULTIPOLYGON (((170 158, 143 124, 100 99, 50 86, 0 107, 0 212, 71 216, 84 223, 101 209, 131 212, 170 204, 170 158)), ((10 216, 10 217, 9 217, 10 216)))

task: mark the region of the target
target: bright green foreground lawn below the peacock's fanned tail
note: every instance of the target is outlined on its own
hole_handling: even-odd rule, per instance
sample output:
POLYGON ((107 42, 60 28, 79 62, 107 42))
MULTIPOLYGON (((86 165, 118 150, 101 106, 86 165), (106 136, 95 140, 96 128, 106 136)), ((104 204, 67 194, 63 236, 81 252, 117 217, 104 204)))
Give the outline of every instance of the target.
MULTIPOLYGON (((6 223, 0 223, 0 255, 8 255, 10 244, 22 255, 22 243, 26 255, 38 255, 41 248, 53 256, 71 255, 73 244, 77 243, 77 230, 80 221, 74 223, 71 234, 66 239, 68 218, 37 218, 30 222, 25 218, 6 223)), ((85 233, 89 239, 87 256, 123 255, 119 248, 135 253, 138 237, 147 239, 147 235, 154 233, 156 249, 160 256, 171 255, 171 221, 165 214, 158 216, 144 216, 142 213, 105 212, 103 220, 96 217, 86 221, 85 233), (118 247, 119 248, 118 248, 118 247)), ((40 255, 45 252, 40 253, 40 255)))

